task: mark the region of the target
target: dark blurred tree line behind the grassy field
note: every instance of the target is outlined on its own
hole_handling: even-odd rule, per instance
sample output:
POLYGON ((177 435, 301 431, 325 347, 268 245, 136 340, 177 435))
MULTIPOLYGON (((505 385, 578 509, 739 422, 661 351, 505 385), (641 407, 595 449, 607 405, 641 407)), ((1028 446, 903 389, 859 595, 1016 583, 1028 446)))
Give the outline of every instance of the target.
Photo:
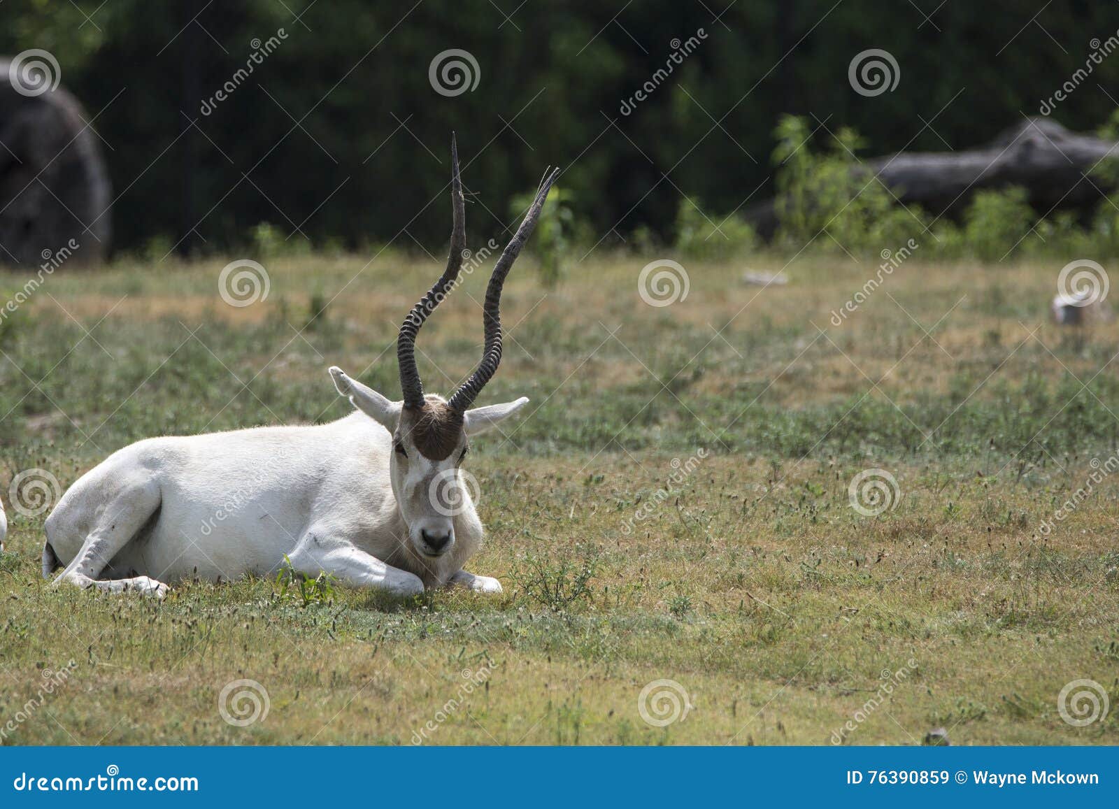
MULTIPOLYGON (((441 244, 458 132, 471 244, 507 233, 549 163, 592 243, 669 241, 680 200, 733 211, 772 196, 782 114, 864 154, 947 150, 1037 114, 1119 8, 1055 0, 7 0, 0 53, 50 51, 85 105, 113 178, 116 247, 245 243, 260 223, 318 246, 441 244), (1036 16, 1035 16, 1036 15, 1036 16), (283 37, 279 31, 283 30, 283 37), (704 38, 658 78, 680 41, 704 38), (260 53, 279 45, 215 94, 260 53), (478 85, 432 86, 448 49, 478 85), (882 48, 896 90, 855 93, 848 64, 882 48), (646 86, 646 97, 633 103, 646 86), (632 111, 621 112, 630 101, 632 111), (205 105, 208 114, 203 114, 205 105)), ((1119 56, 1053 116, 1094 129, 1119 56)))

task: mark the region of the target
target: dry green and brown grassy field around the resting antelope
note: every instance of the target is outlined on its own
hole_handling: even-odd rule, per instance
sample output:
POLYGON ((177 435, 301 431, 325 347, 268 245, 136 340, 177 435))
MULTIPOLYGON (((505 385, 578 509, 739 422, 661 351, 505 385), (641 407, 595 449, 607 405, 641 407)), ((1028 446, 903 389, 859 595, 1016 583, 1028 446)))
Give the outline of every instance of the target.
MULTIPOLYGON (((874 263, 800 257, 762 289, 742 273, 787 258, 685 262, 687 298, 650 307, 647 261, 595 254, 551 292, 518 265, 479 404, 530 415, 467 464, 471 570, 505 593, 408 602, 51 591, 45 515, 9 486, 65 489, 151 435, 340 417, 332 364, 396 393, 436 262, 265 260, 244 308, 224 261, 47 279, 0 321, 0 743, 1119 743, 1119 322, 1049 322, 1062 262, 913 257, 843 318, 874 263), (849 493, 865 470, 877 515, 849 493), (269 704, 245 726, 219 711, 239 679, 269 704), (1078 679, 1107 717, 1062 719, 1078 679)), ((487 270, 420 337, 431 389, 477 361, 487 270)), ((0 274, 0 299, 25 281, 0 274)))

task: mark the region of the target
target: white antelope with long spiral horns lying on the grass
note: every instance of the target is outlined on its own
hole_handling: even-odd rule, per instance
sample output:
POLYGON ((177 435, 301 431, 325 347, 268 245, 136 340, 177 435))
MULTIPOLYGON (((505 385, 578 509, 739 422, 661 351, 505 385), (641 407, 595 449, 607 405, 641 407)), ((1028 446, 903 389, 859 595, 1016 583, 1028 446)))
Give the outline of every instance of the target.
POLYGON ((532 234, 558 169, 542 182, 486 290, 485 348, 449 398, 424 395, 415 363, 420 327, 453 288, 466 225, 451 143, 452 222, 446 270, 401 326, 402 402, 330 368, 357 407, 314 426, 254 427, 140 441, 82 476, 46 521, 43 574, 109 592, 162 598, 164 581, 269 575, 284 563, 309 576, 395 594, 462 585, 500 592, 463 565, 482 526, 459 467, 467 441, 527 404, 470 410, 501 360, 501 288, 532 234))

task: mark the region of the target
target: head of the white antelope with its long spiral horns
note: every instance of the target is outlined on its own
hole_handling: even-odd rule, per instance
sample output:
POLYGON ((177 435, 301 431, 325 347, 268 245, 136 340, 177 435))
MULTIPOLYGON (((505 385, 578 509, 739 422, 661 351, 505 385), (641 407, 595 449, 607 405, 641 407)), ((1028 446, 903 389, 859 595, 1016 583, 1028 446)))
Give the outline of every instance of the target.
POLYGON ((467 243, 466 215, 462 182, 459 178, 459 153, 453 138, 451 251, 442 276, 412 308, 401 324, 396 339, 396 358, 403 401, 393 402, 350 378, 340 368, 330 368, 338 392, 349 397, 356 407, 379 422, 392 434, 389 477, 393 493, 407 525, 413 548, 427 558, 442 556, 454 546, 453 517, 471 506, 470 495, 459 474, 470 436, 497 425, 528 404, 528 398, 521 396, 505 404, 470 406, 501 361, 501 288, 520 248, 536 227, 544 199, 558 175, 560 170, 555 169, 540 182, 536 199, 493 266, 482 313, 485 346, 481 361, 449 399, 435 394, 424 394, 416 368, 415 340, 420 327, 455 286, 462 269, 467 243))

